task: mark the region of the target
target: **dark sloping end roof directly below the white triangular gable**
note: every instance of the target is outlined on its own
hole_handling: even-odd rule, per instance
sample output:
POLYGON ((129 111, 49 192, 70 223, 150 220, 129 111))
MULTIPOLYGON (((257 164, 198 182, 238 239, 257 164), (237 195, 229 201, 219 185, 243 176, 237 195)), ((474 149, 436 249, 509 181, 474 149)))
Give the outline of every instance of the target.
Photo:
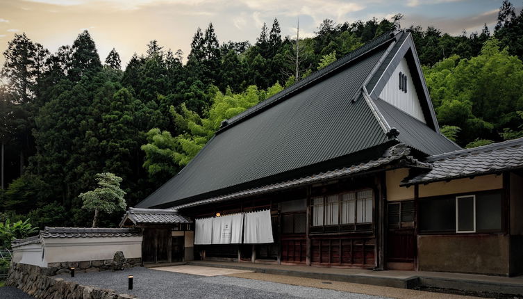
POLYGON ((399 131, 397 139, 428 155, 461 149, 442 134, 436 133, 420 120, 413 118, 395 106, 377 99, 374 101, 389 126, 399 131))

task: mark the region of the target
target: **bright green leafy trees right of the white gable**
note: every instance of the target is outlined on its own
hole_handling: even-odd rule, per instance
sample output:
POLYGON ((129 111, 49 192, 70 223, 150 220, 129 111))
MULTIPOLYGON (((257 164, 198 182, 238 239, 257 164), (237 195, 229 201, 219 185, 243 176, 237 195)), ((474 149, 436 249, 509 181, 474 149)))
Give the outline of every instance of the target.
POLYGON ((452 56, 424 73, 438 120, 461 128, 461 145, 499 138, 519 122, 515 111, 523 108, 523 63, 501 50, 495 38, 485 42, 479 56, 452 56))

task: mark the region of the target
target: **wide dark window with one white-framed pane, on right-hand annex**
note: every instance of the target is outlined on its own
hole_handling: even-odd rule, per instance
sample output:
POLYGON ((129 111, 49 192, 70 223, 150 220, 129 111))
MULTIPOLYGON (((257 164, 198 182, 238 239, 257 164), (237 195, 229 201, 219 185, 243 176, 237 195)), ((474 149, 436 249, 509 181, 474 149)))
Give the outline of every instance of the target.
POLYGON ((487 192, 420 200, 420 232, 501 232, 501 199, 487 192))

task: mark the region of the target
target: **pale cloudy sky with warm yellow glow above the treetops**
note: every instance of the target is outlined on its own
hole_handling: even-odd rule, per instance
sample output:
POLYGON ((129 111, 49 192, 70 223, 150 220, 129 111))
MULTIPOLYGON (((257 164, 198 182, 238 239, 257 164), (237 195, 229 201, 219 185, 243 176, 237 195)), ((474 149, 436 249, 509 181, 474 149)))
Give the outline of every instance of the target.
MULTIPOLYGON (((493 29, 501 0, 0 0, 0 51, 16 33, 26 33, 54 52, 72 45, 87 29, 102 60, 113 47, 126 65, 150 40, 189 54, 198 27, 213 22, 219 42, 256 42, 263 23, 280 22, 282 35, 313 36, 323 19, 336 23, 390 18, 401 13, 402 28, 435 26, 458 35, 493 29)), ((513 1, 520 6, 518 1, 513 1)), ((0 57, 0 65, 4 58, 0 57)))

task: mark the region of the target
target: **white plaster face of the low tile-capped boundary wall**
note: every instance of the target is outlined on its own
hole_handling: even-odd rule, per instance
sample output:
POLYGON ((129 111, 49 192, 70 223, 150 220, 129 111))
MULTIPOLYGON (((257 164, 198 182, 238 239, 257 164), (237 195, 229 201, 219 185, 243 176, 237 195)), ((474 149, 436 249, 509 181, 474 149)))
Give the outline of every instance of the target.
POLYGON ((117 251, 124 252, 126 258, 142 257, 142 236, 43 240, 47 263, 113 259, 117 251))

